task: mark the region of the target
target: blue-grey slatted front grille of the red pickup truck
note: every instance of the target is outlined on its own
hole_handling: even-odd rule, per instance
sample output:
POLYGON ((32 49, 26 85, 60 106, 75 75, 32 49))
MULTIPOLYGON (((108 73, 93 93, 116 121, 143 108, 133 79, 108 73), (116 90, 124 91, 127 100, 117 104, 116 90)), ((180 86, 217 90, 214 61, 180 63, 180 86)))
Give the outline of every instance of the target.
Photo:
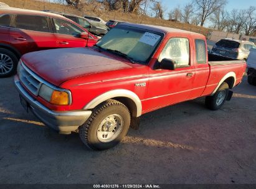
POLYGON ((37 96, 39 94, 40 86, 42 83, 37 80, 28 68, 24 68, 24 65, 19 65, 19 79, 22 84, 26 86, 27 90, 37 96))

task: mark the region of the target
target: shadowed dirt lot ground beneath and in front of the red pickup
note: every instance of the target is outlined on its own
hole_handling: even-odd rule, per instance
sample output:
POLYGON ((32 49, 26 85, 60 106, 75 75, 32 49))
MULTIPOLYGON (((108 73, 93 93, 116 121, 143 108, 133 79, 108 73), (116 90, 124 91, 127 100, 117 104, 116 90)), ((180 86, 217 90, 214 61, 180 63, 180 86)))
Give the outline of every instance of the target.
POLYGON ((256 86, 219 111, 196 99, 146 114, 139 131, 103 152, 57 134, 0 79, 0 183, 256 183, 256 86))

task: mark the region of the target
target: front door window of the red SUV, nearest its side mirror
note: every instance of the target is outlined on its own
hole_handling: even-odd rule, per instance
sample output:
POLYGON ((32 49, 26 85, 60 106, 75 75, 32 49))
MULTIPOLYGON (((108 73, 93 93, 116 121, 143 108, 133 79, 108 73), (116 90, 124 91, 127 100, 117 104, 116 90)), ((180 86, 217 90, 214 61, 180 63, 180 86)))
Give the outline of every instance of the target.
POLYGON ((82 29, 77 27, 77 25, 72 24, 70 22, 61 20, 61 19, 53 19, 54 20, 54 25, 57 34, 65 34, 65 35, 78 35, 83 32, 82 29))

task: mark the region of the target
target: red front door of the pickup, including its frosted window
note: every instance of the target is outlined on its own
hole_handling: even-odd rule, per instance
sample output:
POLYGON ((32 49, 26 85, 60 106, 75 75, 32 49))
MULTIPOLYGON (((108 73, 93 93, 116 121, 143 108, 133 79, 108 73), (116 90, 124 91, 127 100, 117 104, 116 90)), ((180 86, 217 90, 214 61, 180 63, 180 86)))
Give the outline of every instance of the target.
POLYGON ((186 37, 169 39, 158 57, 176 62, 175 70, 149 70, 148 98, 143 106, 148 111, 186 101, 192 90, 194 66, 191 63, 191 40, 186 37))

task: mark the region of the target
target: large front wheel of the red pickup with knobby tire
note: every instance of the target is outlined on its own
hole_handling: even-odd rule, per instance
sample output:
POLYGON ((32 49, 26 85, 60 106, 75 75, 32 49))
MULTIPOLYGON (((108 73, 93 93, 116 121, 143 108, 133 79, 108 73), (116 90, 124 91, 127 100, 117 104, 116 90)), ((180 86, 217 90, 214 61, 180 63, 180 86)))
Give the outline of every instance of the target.
POLYGON ((93 109, 87 122, 79 127, 79 136, 89 149, 107 150, 126 136, 130 122, 128 108, 119 101, 108 99, 93 109))

